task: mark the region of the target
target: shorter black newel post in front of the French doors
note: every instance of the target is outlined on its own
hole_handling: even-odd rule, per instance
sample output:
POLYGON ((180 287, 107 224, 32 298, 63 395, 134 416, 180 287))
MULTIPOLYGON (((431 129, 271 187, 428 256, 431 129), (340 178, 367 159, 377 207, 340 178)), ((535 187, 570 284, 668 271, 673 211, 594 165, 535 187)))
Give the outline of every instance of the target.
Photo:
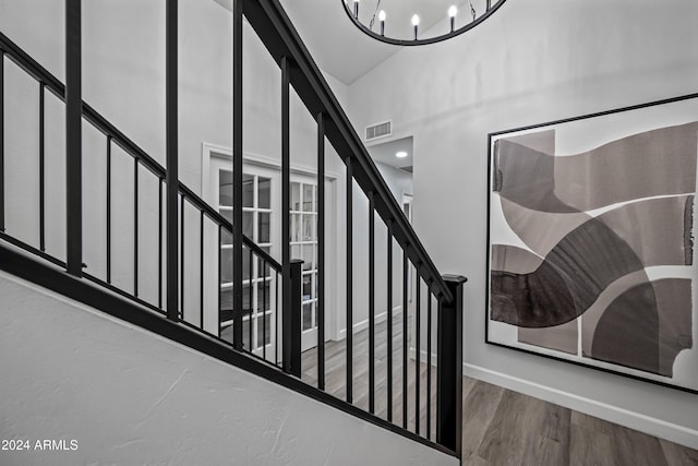
POLYGON ((303 261, 291 260, 290 308, 284 309, 281 331, 284 332, 284 372, 301 377, 301 310, 303 294, 303 261))

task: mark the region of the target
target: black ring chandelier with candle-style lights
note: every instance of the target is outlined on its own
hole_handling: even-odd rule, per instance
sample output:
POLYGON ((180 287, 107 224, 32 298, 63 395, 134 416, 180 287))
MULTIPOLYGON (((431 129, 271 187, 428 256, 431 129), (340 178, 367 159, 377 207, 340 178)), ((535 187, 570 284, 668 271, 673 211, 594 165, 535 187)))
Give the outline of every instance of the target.
POLYGON ((446 40, 472 29, 506 0, 341 1, 351 22, 364 34, 387 44, 417 46, 446 40))

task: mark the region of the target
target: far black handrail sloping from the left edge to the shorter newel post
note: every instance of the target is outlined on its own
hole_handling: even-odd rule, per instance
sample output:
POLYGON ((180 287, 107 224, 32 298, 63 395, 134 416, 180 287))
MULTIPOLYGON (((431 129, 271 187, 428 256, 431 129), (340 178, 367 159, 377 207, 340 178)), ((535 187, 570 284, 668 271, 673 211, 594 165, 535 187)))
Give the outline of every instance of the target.
MULTIPOLYGON (((27 52, 25 52, 20 46, 14 44, 8 36, 0 32, 0 50, 2 50, 8 58, 22 68, 25 72, 34 76, 37 81, 44 83, 46 88, 50 89, 53 95, 64 101, 65 99, 65 85, 61 83, 46 68, 41 67, 36 60, 34 60, 27 52)), ((152 156, 149 156, 143 148, 141 148, 130 138, 119 131, 112 123, 110 123, 105 117, 103 117, 97 110, 91 107, 87 103, 83 101, 83 116, 89 121, 97 130, 107 136, 111 136, 113 143, 118 144, 124 152, 135 157, 153 172, 156 177, 165 180, 166 170, 160 164, 157 163, 152 156)), ((189 189, 183 182, 179 181, 179 192, 182 196, 186 198, 196 208, 202 211, 208 218, 216 222, 227 231, 232 234, 232 224, 218 211, 213 208, 206 201, 201 199, 200 195, 189 189)), ((274 270, 280 271, 281 264, 272 258, 266 251, 260 248, 254 241, 243 235, 243 243, 246 248, 252 250, 255 254, 261 256, 266 263, 274 270)))

